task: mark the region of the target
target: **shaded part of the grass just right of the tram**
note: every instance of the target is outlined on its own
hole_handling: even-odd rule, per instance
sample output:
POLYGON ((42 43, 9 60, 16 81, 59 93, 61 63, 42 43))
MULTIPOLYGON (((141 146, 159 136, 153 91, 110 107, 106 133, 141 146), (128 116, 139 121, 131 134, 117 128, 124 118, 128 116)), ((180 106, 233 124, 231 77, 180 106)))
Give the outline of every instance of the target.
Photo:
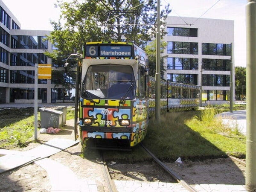
MULTIPOLYGON (((157 157, 164 160, 222 157, 223 151, 185 124, 192 116, 200 116, 199 111, 167 113, 161 122, 151 119, 145 145, 157 157)), ((198 125, 198 122, 195 122, 198 125)))

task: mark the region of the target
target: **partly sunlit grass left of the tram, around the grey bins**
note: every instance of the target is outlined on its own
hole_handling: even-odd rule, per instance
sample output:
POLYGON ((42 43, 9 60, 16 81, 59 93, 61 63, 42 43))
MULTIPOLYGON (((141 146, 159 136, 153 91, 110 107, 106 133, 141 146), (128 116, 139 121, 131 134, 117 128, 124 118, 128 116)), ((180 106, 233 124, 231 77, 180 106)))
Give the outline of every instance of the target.
MULTIPOLYGON (((34 108, 0 110, 0 148, 26 147, 35 133, 34 108)), ((67 120, 74 118, 74 108, 67 108, 67 120)), ((38 111, 38 126, 40 112, 38 111)))

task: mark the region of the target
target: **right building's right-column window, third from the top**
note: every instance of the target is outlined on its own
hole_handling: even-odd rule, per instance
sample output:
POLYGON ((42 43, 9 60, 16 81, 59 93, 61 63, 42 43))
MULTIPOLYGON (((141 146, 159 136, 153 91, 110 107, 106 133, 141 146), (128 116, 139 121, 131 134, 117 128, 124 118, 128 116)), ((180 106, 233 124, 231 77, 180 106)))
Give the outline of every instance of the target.
POLYGON ((229 87, 230 75, 202 75, 203 86, 229 87))

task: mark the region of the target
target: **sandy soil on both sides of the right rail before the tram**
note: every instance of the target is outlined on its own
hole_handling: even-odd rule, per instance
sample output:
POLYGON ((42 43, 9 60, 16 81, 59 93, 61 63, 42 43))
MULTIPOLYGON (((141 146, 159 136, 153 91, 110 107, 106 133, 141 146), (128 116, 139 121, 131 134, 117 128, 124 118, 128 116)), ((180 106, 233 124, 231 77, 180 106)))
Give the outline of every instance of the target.
MULTIPOLYGON (((115 164, 111 175, 115 180, 147 180, 175 182, 155 163, 115 164), (160 170, 160 171, 159 171, 160 170)), ((185 161, 182 164, 165 163, 173 172, 187 183, 194 184, 230 184, 245 185, 245 165, 230 158, 204 161, 185 161)))

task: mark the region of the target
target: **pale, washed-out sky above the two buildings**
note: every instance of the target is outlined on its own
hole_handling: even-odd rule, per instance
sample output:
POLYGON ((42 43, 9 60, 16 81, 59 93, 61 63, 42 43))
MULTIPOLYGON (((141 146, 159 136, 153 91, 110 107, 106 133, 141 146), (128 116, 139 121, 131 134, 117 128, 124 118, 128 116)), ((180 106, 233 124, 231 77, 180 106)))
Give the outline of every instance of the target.
MULTIPOLYGON (((50 20, 58 21, 56 0, 2 0, 21 23, 21 29, 53 30, 50 20)), ((245 6, 247 0, 160 0, 169 3, 170 16, 234 20, 235 66, 246 67, 245 6)))

